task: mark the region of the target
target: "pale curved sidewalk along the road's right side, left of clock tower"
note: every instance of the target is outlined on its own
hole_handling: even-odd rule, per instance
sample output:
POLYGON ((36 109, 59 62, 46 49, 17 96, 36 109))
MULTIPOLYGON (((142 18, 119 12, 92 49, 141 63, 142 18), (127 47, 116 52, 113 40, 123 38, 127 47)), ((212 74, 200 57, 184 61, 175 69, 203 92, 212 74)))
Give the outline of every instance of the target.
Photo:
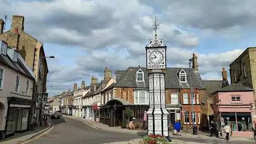
POLYGON ((90 125, 93 128, 97 128, 97 129, 104 130, 104 131, 120 132, 120 133, 131 133, 131 134, 146 133, 147 132, 145 130, 128 130, 127 128, 110 127, 110 126, 104 125, 101 122, 95 122, 93 120, 87 120, 86 118, 80 118, 80 117, 75 117, 75 116, 62 115, 62 117, 67 117, 67 118, 73 118, 73 119, 76 119, 76 120, 80 120, 80 121, 83 121, 86 124, 90 125))

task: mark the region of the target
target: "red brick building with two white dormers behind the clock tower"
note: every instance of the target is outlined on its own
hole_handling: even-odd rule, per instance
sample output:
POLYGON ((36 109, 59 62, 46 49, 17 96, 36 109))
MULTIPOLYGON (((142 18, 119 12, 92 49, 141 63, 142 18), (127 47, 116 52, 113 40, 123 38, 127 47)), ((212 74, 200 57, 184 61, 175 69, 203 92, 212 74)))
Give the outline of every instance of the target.
MULTIPOLYGON (((194 98, 195 124, 200 125, 201 98, 205 97, 205 87, 198 72, 197 59, 191 68, 194 98), (194 70, 195 69, 195 70, 194 70)), ((183 127, 191 127, 191 101, 189 68, 167 68, 165 73, 166 109, 170 112, 169 123, 180 120, 183 127), (186 125, 184 125, 186 124, 186 125)), ((100 121, 109 126, 127 123, 125 110, 131 109, 135 121, 143 120, 144 111, 149 108, 149 78, 145 67, 129 67, 126 71, 115 72, 115 83, 102 93, 110 93, 101 103, 100 121), (109 121, 104 121, 104 117, 109 121)))

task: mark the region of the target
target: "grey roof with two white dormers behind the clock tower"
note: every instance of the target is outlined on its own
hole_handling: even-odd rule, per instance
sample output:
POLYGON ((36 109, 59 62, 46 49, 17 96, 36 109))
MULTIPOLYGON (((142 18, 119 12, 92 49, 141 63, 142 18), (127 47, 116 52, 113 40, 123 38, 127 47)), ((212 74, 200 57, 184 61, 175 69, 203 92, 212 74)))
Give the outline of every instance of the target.
MULTIPOLYGON (((199 72, 195 72, 193 68, 191 69, 192 88, 205 89, 199 72)), ((125 72, 117 72, 119 72, 119 75, 117 75, 116 80, 119 81, 116 81, 115 85, 112 87, 149 88, 149 77, 146 67, 129 67, 125 72), (136 82, 136 72, 139 71, 139 69, 144 72, 144 82, 136 82)), ((167 68, 165 73, 165 88, 190 88, 189 68, 167 68), (187 82, 179 81, 179 72, 182 70, 186 72, 187 82)))

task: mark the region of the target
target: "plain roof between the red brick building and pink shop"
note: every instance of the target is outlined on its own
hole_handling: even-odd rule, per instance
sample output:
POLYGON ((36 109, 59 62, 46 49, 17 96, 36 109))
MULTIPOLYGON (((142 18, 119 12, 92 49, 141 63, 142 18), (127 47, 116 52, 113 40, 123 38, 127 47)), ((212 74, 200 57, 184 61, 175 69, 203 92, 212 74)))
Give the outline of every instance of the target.
POLYGON ((203 81, 206 93, 213 93, 223 87, 229 86, 228 81, 203 81))

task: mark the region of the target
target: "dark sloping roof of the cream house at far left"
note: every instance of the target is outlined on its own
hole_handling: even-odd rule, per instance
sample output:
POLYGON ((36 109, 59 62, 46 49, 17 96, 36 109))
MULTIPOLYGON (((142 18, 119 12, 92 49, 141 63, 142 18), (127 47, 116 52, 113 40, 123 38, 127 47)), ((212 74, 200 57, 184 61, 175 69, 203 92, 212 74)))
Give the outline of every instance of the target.
MULTIPOLYGON (((8 49, 8 48, 7 48, 8 49)), ((22 73, 25 76, 28 76, 32 80, 35 80, 35 78, 31 75, 31 73, 28 72, 26 66, 23 65, 21 60, 17 59, 17 62, 12 61, 12 59, 8 56, 4 56, 3 54, 0 54, 0 63, 14 69, 15 71, 18 71, 19 73, 22 73)))

